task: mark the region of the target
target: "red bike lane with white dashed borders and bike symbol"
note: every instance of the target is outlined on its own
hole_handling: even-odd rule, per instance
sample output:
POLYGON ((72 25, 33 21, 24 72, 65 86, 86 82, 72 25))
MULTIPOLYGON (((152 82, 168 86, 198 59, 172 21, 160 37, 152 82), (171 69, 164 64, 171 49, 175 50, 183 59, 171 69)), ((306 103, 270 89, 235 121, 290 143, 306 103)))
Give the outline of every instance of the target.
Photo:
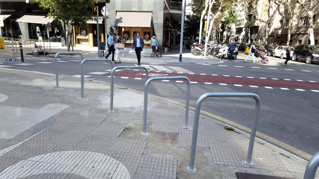
MULTIPOLYGON (((109 74, 105 74, 106 76, 109 74)), ((121 72, 115 72, 116 76, 118 77, 131 77, 131 78, 143 78, 145 79, 145 73, 138 73, 138 71, 134 70, 125 70, 121 72)), ((160 72, 160 73, 153 73, 152 71, 149 71, 149 76, 180 76, 179 73, 166 73, 166 72, 160 72)), ((183 74, 184 76, 189 78, 189 81, 191 83, 205 83, 205 84, 219 84, 219 85, 243 85, 243 86, 250 86, 253 88, 258 87, 270 87, 271 88, 278 88, 278 89, 303 89, 303 90, 319 90, 319 83, 318 82, 304 82, 304 81, 298 81, 298 80, 290 80, 290 79, 261 79, 261 78, 254 78, 251 76, 248 77, 234 77, 234 76, 219 76, 219 75, 200 75, 200 74, 183 74)), ((168 82, 169 80, 164 80, 165 82, 168 82)), ((171 80, 176 81, 176 80, 171 80)), ((184 81, 183 81, 184 82, 184 81)), ((315 91, 316 92, 316 91, 315 91)))

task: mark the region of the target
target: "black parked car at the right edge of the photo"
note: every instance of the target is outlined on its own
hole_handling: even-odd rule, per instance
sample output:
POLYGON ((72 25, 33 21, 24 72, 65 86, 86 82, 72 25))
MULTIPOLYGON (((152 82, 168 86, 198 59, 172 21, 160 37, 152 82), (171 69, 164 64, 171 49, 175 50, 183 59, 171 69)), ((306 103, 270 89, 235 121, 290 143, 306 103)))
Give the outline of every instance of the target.
POLYGON ((298 45, 293 51, 292 61, 306 61, 307 64, 319 63, 319 45, 298 45))

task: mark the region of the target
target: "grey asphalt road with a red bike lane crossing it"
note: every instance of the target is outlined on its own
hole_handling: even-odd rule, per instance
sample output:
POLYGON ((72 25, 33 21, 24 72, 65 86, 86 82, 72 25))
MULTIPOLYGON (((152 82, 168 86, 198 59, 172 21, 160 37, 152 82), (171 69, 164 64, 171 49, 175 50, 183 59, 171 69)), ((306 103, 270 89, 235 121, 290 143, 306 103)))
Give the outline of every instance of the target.
MULTIPOLYGON (((284 60, 273 57, 268 57, 269 64, 253 64, 252 58, 244 63, 242 60, 245 57, 246 55, 239 54, 236 61, 226 60, 217 64, 145 64, 145 66, 149 68, 149 74, 152 76, 185 75, 189 77, 192 82, 189 104, 192 107, 195 107, 197 99, 207 92, 257 94, 261 99, 257 131, 314 155, 319 150, 317 114, 319 109, 319 65, 289 61, 289 66, 284 67, 281 65, 284 60)), ((55 64, 52 63, 54 60, 52 58, 41 58, 41 60, 26 58, 25 64, 32 65, 12 65, 14 62, 1 61, 1 58, 0 55, 0 67, 2 68, 55 74, 55 64)), ((74 60, 78 59, 60 59, 59 75, 80 75, 80 61, 74 60)), ((117 65, 130 66, 135 63, 122 60, 122 63, 117 65)), ((110 82, 108 77, 110 70, 108 63, 85 64, 85 75, 90 75, 87 78, 110 82)), ((114 82, 144 91, 144 74, 142 69, 139 71, 123 69, 115 72, 114 82)), ((149 94, 183 104, 186 101, 186 82, 154 81, 150 83, 148 91, 149 94)), ((252 98, 207 98, 201 106, 201 110, 249 128, 252 127, 254 109, 255 100, 252 98)))

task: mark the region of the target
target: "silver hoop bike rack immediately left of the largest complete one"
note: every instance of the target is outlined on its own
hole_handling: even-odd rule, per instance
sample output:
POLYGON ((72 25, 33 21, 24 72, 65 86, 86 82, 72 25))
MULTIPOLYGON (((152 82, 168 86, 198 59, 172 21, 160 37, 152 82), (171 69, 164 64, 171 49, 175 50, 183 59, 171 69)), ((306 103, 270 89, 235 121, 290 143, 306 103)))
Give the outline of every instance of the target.
POLYGON ((146 135, 148 134, 146 132, 146 121, 147 121, 147 87, 148 84, 151 81, 154 80, 178 80, 178 79, 184 79, 187 82, 187 95, 186 95, 186 109, 185 109, 185 125, 183 126, 184 128, 188 129, 188 109, 189 109, 189 91, 190 91, 190 82, 189 79, 186 76, 160 76, 160 77, 152 77, 148 79, 145 82, 145 89, 144 89, 144 118, 143 118, 143 132, 142 134, 146 135))

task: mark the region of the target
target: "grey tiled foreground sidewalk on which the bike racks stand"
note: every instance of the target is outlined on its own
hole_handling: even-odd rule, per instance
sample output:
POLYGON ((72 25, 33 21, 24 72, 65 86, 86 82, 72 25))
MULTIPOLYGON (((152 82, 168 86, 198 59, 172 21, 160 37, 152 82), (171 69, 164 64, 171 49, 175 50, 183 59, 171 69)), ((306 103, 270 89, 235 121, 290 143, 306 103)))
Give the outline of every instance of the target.
MULTIPOLYGON (((185 108, 149 95, 147 132, 144 94, 80 78, 0 68, 1 179, 236 179, 235 172, 303 178, 307 161, 249 135, 200 117, 196 172, 188 172, 194 111, 184 129, 185 108)), ((257 129, 258 131, 258 129, 257 129)), ((318 172, 317 172, 318 173, 318 172)), ((318 175, 316 178, 319 178, 318 175)))

